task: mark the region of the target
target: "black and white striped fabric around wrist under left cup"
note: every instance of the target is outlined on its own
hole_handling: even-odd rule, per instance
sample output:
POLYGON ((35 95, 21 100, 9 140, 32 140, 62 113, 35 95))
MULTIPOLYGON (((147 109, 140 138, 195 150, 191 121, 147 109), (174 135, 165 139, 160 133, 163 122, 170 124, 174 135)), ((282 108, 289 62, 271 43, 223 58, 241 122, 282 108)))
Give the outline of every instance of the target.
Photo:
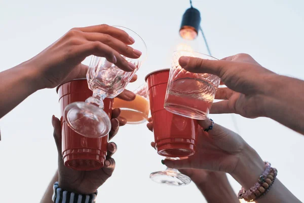
POLYGON ((54 184, 54 194, 52 200, 54 203, 95 203, 97 191, 93 194, 77 194, 64 191, 59 187, 59 183, 54 184))

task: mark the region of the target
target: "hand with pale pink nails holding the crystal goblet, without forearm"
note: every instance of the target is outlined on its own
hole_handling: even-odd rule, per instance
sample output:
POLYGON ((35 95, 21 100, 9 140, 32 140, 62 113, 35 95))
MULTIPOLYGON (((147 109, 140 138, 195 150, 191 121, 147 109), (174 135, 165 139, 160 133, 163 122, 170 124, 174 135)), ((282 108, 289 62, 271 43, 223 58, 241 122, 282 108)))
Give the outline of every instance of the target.
POLYGON ((88 66, 81 62, 90 55, 105 57, 124 71, 134 71, 135 65, 121 56, 140 57, 139 50, 128 46, 134 42, 127 32, 105 24, 72 28, 25 63, 40 89, 53 88, 75 78, 85 78, 88 66))

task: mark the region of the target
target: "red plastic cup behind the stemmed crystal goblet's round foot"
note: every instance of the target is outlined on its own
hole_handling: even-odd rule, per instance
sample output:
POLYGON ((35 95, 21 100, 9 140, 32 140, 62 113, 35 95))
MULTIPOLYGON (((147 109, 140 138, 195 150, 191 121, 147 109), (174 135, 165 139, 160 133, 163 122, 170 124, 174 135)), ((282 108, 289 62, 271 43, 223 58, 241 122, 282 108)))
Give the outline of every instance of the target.
MULTIPOLYGON (((67 105, 74 101, 85 101, 92 96, 86 79, 72 80, 57 87, 61 113, 62 156, 64 165, 78 171, 93 171, 104 164, 108 136, 87 138, 73 131, 63 118, 67 105)), ((113 99, 104 99, 104 111, 111 116, 113 99)))

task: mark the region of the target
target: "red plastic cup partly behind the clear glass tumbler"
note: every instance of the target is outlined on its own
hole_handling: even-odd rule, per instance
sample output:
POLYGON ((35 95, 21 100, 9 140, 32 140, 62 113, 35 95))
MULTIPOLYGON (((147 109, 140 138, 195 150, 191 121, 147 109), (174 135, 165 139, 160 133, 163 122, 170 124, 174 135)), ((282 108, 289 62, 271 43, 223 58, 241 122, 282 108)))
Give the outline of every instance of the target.
POLYGON ((196 150, 198 123, 164 109, 169 69, 145 77, 148 84, 154 139, 158 154, 166 157, 191 156, 196 150))

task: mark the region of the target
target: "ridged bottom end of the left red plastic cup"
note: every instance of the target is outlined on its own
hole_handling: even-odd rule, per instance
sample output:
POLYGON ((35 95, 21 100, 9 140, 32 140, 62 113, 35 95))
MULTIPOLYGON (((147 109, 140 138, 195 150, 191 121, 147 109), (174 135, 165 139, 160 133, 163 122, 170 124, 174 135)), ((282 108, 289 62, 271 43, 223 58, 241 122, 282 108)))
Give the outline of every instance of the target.
POLYGON ((105 153, 100 154, 68 154, 63 157, 66 167, 76 171, 94 171, 103 167, 105 153))

